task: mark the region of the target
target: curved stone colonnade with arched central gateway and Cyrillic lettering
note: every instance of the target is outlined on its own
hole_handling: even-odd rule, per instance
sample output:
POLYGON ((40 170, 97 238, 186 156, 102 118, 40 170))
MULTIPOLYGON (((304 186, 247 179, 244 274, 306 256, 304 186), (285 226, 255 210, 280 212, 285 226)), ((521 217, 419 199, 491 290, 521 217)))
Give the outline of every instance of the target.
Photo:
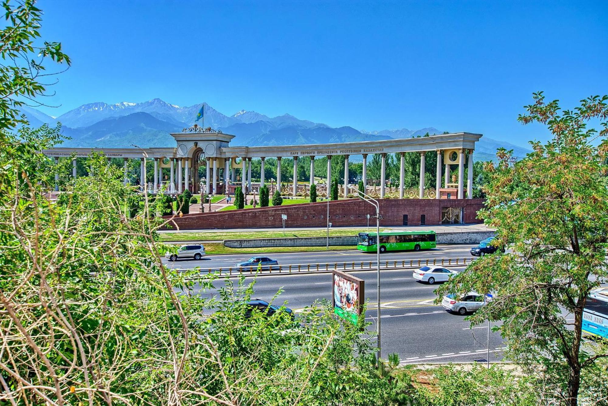
MULTIPOLYGON (((125 183, 127 162, 130 159, 139 159, 142 167, 140 188, 147 193, 164 193, 176 194, 188 189, 193 194, 226 194, 234 193, 236 187, 240 186, 248 193, 258 193, 260 187, 266 184, 271 190, 271 194, 275 188, 282 185, 281 182, 281 160, 283 157, 293 159, 293 181, 289 187, 283 187, 281 193, 283 196, 308 196, 309 185, 312 185, 316 179, 314 177, 314 159, 319 156, 327 157, 327 178, 322 181, 322 184, 317 185, 317 193, 319 196, 327 196, 330 193, 330 188, 327 185, 331 184, 331 158, 333 156, 345 156, 345 177, 344 185, 340 186, 340 196, 353 198, 357 195, 357 187, 352 187, 348 184, 348 157, 362 156, 363 171, 362 181, 366 185, 366 193, 373 198, 390 199, 395 201, 396 198, 404 201, 412 201, 417 199, 425 199, 426 204, 430 204, 430 199, 455 199, 464 201, 472 199, 472 178, 473 178, 473 151, 475 150, 475 142, 477 142, 482 134, 473 134, 470 132, 455 132, 451 134, 440 134, 429 137, 416 137, 404 139, 390 139, 379 141, 363 141, 363 142, 344 142, 344 143, 328 143, 317 145, 280 145, 280 146, 230 146, 230 141, 235 137, 230 134, 224 134, 221 131, 214 131, 210 128, 203 129, 201 126, 193 125, 190 128, 184 128, 181 132, 171 133, 171 136, 176 142, 173 148, 50 148, 44 150, 46 156, 55 159, 58 162, 60 157, 72 157, 73 170, 72 176, 76 176, 76 158, 89 156, 92 152, 102 153, 108 158, 122 157, 125 166, 125 183), (437 179, 435 188, 424 187, 424 153, 435 151, 437 153, 437 179), (404 153, 420 153, 420 185, 418 193, 404 190, 404 153), (395 188, 387 188, 385 182, 385 157, 389 153, 401 154, 400 179, 398 193, 395 188), (367 185, 367 157, 368 154, 380 154, 381 156, 381 179, 379 186, 367 185), (297 182, 297 160, 300 157, 310 157, 310 179, 308 184, 297 182), (277 179, 276 183, 268 184, 264 179, 264 160, 266 157, 275 157, 277 159, 277 179), (254 159, 261 160, 260 182, 252 182, 251 179, 251 162, 254 159), (145 165, 147 160, 154 160, 154 176, 153 179, 146 179, 145 165), (466 197, 465 197, 465 160, 468 160, 468 173, 466 177, 466 197), (206 176, 204 179, 199 179, 199 166, 206 167, 206 176), (458 176, 449 179, 449 173, 452 165, 458 167, 458 176), (444 166, 445 176, 444 183, 441 184, 441 174, 444 166), (168 176, 163 179, 163 168, 168 169, 168 176), (235 182, 235 169, 241 169, 241 179, 235 182), (408 193, 409 192, 409 193, 408 193)), ((167 170, 165 170, 166 174, 167 170)), ((58 180, 58 175, 56 175, 58 180)), ((58 190, 58 187, 56 187, 58 190)), ((478 199, 475 199, 478 200, 478 199)), ((447 202, 446 202, 447 203, 447 202)), ((450 202, 452 203, 452 202, 450 202)), ((455 201, 453 202, 455 203, 455 201)), ((472 202, 471 202, 472 203, 472 202)), ((463 205, 466 202, 458 204, 460 210, 463 210, 463 205)), ((470 205, 470 204, 469 204, 470 205)), ((480 206, 480 204, 474 204, 480 206)), ((299 206, 299 205, 294 205, 299 206)), ((449 204, 454 207, 453 204, 449 204)), ((272 207, 264 207, 259 209, 249 210, 269 210, 272 207)), ((285 210, 294 210, 291 205, 283 207, 285 210)), ((444 214, 439 216, 444 217, 444 214)), ((243 210, 240 210, 242 212, 243 210)), ((407 210, 406 210, 407 211, 407 210)), ((455 212, 447 210, 447 212, 455 212)), ((219 212, 222 213, 222 212, 219 212)), ((229 213, 229 212, 225 212, 229 213)), ((232 212, 233 213, 233 212, 232 212)), ((213 213, 205 213, 212 215, 213 213)), ((253 214, 253 213, 251 213, 253 214)), ((202 213, 198 213, 201 216, 202 213)), ((457 215, 457 222, 463 222, 463 213, 452 213, 451 216, 457 215)), ((193 216, 193 215, 191 215, 193 216)), ((345 215, 346 216, 346 215, 345 215)), ((308 216, 304 215, 305 218, 308 216)), ((469 220, 471 216, 468 216, 469 220)), ((316 216, 315 216, 316 218, 316 216)), ((407 218, 405 216, 404 218, 407 218)), ((474 218, 474 217, 473 217, 474 218)), ((202 218, 201 218, 202 220, 202 218)), ((404 222, 406 222, 404 220, 404 222)), ((445 222, 445 221, 443 221, 445 222)), ((451 219, 454 222, 454 218, 451 219)), ((415 224, 415 222, 412 222, 415 224)), ((421 223, 425 224, 425 223, 421 223)), ((432 224, 432 222, 426 222, 432 224)), ((216 227, 211 227, 216 228, 216 227)), ((223 227, 219 227, 223 228, 223 227)))

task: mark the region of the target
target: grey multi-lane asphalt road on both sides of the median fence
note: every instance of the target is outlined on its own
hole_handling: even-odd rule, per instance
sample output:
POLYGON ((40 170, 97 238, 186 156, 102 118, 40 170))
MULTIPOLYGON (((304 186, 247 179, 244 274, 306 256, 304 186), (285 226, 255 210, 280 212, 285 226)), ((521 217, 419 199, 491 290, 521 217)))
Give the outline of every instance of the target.
MULTIPOLYGON (((412 258, 449 258, 468 255, 469 246, 441 246, 437 250, 423 252, 398 252, 381 255, 383 260, 410 260, 412 258)), ((375 260, 374 255, 356 251, 281 253, 269 255, 280 264, 305 264, 344 261, 375 260)), ((178 261, 169 266, 181 269, 200 266, 230 266, 247 255, 213 255, 201 261, 178 261), (213 263, 212 266, 207 264, 213 263), (221 264, 221 265, 220 265, 221 264)), ((463 267, 451 267, 462 270, 463 267)), ((376 272, 350 272, 365 280, 365 295, 368 300, 366 318, 370 329, 376 329, 376 272)), ((247 280, 253 280, 248 278, 247 280)), ((216 287, 223 280, 215 283, 216 287)), ((270 300, 279 289, 281 303, 297 312, 315 300, 331 300, 333 284, 331 274, 292 274, 258 276, 254 297, 270 300)), ((412 362, 472 362, 486 359, 488 349, 487 325, 469 328, 465 317, 444 311, 432 301, 437 297, 437 285, 422 284, 412 278, 411 269, 381 271, 382 357, 398 353, 403 363, 412 362)), ((210 292, 213 293, 213 292, 210 292)), ((202 293, 209 294, 209 293, 202 293)), ((489 359, 502 358, 502 339, 498 333, 490 332, 489 359)))

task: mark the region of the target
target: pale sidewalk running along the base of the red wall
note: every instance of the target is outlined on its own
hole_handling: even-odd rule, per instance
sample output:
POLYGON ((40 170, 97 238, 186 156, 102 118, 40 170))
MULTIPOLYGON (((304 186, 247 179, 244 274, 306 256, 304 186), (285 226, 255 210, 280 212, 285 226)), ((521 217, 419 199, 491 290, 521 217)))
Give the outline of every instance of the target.
MULTIPOLYGON (((226 205, 224 205, 226 206, 226 205)), ((201 205, 199 204, 198 207, 200 208, 201 205)), ((211 205, 212 209, 213 209, 213 204, 211 205)), ((207 210, 207 206, 205 207, 205 209, 207 210)), ((192 210, 192 206, 190 206, 190 210, 192 210)), ((195 212, 190 212, 190 213, 195 213, 195 212)), ((199 213, 199 212, 196 212, 199 213)), ((403 227, 399 227, 399 226, 391 226, 391 227, 384 227, 384 226, 380 226, 381 229, 390 229, 393 231, 416 231, 416 230, 430 230, 430 231, 434 231, 436 233, 465 233, 465 232, 471 232, 471 231, 494 231, 494 229, 491 229, 490 227, 486 226, 485 224, 444 224, 444 225, 415 225, 415 226, 403 226, 403 227)), ((325 230, 326 227, 294 227, 294 228, 289 228, 286 227, 285 231, 289 232, 289 231, 298 231, 298 230, 325 230)), ((367 227, 363 226, 363 227, 332 227, 332 229, 340 229, 340 230, 361 230, 361 229, 367 229, 367 227)), ((282 230, 282 228, 280 227, 273 227, 273 228, 269 228, 269 229, 227 229, 227 230, 208 230, 208 229, 202 229, 202 230, 187 230, 187 231, 182 231, 182 230, 165 230, 165 231, 159 231, 159 233, 229 233, 229 232, 260 232, 260 231, 277 231, 277 230, 282 230)), ((370 233, 371 232, 375 232, 376 227, 375 225, 370 224, 370 233)))

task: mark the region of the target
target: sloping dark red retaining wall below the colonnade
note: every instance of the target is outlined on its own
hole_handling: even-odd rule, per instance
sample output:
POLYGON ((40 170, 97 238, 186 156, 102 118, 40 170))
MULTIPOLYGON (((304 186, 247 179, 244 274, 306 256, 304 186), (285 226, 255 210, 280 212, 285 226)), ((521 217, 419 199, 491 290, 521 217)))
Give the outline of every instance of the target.
MULTIPOLYGON (((408 225, 420 225, 421 215, 426 225, 441 224, 441 208, 464 208, 463 222, 480 223, 477 210, 483 207, 483 199, 381 199, 380 225, 403 225, 407 215, 408 225)), ((281 215, 287 215, 286 227, 324 227, 327 223, 327 202, 283 205, 278 207, 246 208, 227 212, 195 213, 175 217, 172 229, 254 229, 283 227, 281 215)), ((367 225, 367 215, 375 216, 376 210, 361 199, 330 202, 330 222, 334 227, 367 225)), ((370 218, 370 225, 375 225, 370 218)))

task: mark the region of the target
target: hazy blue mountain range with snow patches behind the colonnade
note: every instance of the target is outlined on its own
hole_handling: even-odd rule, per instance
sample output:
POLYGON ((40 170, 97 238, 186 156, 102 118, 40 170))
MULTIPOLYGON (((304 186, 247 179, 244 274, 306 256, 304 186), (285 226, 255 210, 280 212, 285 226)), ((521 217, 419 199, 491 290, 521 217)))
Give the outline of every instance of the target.
MULTIPOLYGON (((63 146, 171 146, 174 141, 169 132, 191 126, 202 105, 205 106, 204 122, 199 122, 199 125, 210 126, 235 135, 231 145, 293 145, 385 140, 424 136, 427 132, 429 134, 443 132, 434 127, 379 131, 359 131, 349 126, 331 128, 323 123, 300 120, 291 114, 268 117, 255 111, 241 110, 233 115, 224 115, 207 103, 181 107, 160 98, 142 103, 130 101, 116 104, 88 103, 59 117, 51 117, 27 106, 22 107, 22 113, 26 115, 32 126, 61 123, 63 134, 71 138, 66 140, 63 146)), ((478 143, 477 159, 492 159, 499 146, 516 150, 516 156, 523 156, 529 152, 516 145, 483 137, 478 143)))

